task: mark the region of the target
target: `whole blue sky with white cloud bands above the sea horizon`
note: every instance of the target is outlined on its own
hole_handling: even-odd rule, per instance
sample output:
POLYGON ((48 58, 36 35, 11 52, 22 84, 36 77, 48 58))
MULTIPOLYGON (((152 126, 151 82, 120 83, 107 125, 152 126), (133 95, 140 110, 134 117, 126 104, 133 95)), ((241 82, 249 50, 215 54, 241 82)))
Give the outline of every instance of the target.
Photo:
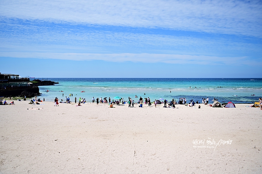
POLYGON ((261 78, 261 1, 0 1, 1 73, 261 78))

